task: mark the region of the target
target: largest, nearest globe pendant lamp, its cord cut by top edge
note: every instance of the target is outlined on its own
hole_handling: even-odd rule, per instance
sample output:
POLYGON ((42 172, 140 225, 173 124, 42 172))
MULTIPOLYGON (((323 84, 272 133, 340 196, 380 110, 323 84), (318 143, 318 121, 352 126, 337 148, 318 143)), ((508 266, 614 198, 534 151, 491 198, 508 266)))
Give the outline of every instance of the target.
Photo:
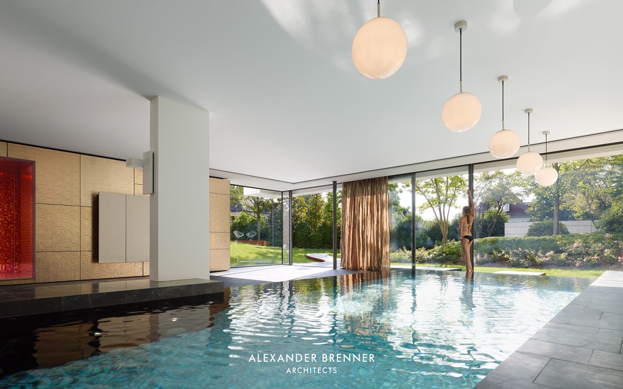
POLYGON ((396 73, 407 57, 407 34, 394 19, 381 17, 380 0, 377 14, 354 35, 351 54, 359 73, 382 80, 396 73))

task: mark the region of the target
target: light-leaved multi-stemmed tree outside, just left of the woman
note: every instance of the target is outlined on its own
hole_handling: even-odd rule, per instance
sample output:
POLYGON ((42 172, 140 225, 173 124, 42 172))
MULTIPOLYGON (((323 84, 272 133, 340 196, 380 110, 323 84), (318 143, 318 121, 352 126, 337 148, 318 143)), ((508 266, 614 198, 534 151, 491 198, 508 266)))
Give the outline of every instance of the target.
POLYGON ((467 189, 462 176, 446 176, 416 181, 416 194, 426 201, 418 207, 420 212, 432 210, 442 234, 442 244, 448 243, 450 211, 457 207, 459 191, 467 189))

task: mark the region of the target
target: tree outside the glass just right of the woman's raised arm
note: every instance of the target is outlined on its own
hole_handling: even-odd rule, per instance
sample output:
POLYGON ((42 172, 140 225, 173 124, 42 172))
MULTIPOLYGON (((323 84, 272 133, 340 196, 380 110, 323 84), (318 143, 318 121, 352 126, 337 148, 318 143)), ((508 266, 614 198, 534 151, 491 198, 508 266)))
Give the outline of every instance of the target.
POLYGON ((506 215, 506 204, 519 204, 528 195, 527 180, 519 171, 506 174, 502 171, 484 172, 474 177, 474 198, 476 202, 475 231, 476 238, 480 238, 483 230, 487 237, 493 237, 499 232, 494 230, 498 222, 506 215))

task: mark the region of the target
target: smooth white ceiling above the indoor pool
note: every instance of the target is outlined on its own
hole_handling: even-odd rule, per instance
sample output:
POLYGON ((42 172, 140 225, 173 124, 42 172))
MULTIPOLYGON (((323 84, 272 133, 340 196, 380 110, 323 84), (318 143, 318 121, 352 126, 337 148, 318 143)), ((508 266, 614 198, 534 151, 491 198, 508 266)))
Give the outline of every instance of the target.
MULTIPOLYGON (((0 139, 126 159, 149 148, 149 100, 210 112, 211 169, 306 182, 623 128, 623 2, 384 0, 409 52, 386 80, 354 68, 373 0, 3 0, 0 139), (483 105, 452 133, 440 111, 483 105)), ((622 139, 623 140, 623 139, 622 139)), ((227 177, 226 177, 227 178, 227 177)))

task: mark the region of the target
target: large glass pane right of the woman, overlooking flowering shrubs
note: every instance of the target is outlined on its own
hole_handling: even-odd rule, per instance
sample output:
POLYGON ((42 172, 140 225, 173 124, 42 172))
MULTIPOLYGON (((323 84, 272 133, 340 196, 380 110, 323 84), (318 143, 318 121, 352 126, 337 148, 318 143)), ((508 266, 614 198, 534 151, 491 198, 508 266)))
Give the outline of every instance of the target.
POLYGON ((623 156, 594 149, 548 159, 558 180, 547 187, 509 162, 474 167, 477 266, 623 269, 623 156))

